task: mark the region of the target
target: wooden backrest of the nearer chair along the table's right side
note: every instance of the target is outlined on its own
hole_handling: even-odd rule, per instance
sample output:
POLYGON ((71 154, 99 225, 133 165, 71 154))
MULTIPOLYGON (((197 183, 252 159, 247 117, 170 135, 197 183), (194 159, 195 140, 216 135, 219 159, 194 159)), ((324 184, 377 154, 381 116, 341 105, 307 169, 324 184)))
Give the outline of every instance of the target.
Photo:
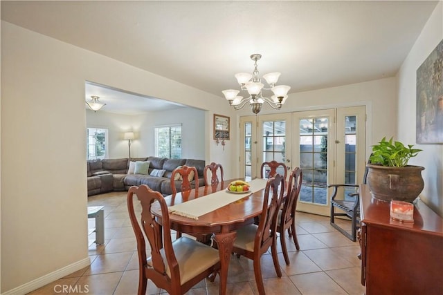
POLYGON ((284 184, 283 176, 278 173, 266 182, 262 214, 254 241, 255 252, 260 251, 262 247, 268 249, 275 238, 276 221, 284 194, 284 184), (271 198, 271 202, 269 202, 269 198, 271 198))

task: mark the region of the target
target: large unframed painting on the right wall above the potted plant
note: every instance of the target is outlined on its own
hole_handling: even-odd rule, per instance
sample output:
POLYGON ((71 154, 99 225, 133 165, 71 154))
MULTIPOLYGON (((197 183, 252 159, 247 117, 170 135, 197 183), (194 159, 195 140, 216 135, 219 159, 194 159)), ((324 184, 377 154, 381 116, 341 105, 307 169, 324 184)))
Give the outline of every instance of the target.
POLYGON ((417 69, 416 140, 443 143, 443 40, 417 69))

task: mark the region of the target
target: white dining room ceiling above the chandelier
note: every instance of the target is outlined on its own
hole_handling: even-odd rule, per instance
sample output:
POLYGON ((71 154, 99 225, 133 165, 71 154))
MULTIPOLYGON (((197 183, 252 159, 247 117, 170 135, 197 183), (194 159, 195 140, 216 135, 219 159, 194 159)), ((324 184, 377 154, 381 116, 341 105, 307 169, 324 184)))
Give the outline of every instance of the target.
POLYGON ((222 97, 253 53, 289 93, 392 77, 437 3, 1 1, 1 19, 222 97))

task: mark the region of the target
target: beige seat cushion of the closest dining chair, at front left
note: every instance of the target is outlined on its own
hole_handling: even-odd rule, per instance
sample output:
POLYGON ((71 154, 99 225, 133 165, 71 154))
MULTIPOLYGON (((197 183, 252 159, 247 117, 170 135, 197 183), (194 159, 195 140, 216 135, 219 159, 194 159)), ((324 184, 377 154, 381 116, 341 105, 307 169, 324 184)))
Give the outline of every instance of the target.
MULTIPOLYGON (((219 251, 217 249, 187 237, 174 240, 172 247, 177 263, 179 263, 181 285, 219 262, 219 251)), ((171 277, 164 249, 161 249, 161 256, 165 263, 166 274, 171 277)), ((147 265, 152 267, 151 258, 147 259, 147 265)))

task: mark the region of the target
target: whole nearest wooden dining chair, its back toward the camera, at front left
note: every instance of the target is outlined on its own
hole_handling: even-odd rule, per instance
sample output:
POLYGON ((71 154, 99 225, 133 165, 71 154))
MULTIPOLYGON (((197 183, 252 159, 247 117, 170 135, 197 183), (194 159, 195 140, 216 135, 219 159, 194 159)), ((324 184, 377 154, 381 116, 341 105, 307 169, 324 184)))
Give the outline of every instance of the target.
POLYGON ((204 278, 215 278, 220 267, 219 252, 191 238, 172 242, 168 206, 161 193, 146 184, 131 187, 127 207, 137 240, 138 295, 146 294, 148 279, 169 294, 184 294, 204 278), (134 194, 141 203, 140 223, 134 210, 134 194), (155 201, 160 204, 162 224, 151 213, 155 201), (149 258, 145 238, 150 244, 149 258))

